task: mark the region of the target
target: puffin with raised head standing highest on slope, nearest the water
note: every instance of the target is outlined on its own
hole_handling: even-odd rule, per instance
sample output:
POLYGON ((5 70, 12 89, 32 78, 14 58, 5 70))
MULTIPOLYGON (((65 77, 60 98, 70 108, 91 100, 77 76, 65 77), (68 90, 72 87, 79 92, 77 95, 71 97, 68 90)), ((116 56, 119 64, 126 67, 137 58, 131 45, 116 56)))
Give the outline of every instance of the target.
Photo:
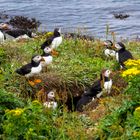
POLYGON ((50 47, 51 49, 56 49, 62 43, 61 29, 55 28, 53 36, 48 38, 42 45, 41 49, 45 47, 50 47))

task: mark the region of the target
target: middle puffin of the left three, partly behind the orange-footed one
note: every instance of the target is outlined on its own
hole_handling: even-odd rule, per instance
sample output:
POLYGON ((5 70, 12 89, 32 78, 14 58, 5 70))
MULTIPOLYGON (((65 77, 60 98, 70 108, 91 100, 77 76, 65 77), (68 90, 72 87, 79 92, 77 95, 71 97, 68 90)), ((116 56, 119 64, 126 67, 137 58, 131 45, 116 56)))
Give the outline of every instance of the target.
POLYGON ((43 50, 43 54, 41 55, 45 61, 41 62, 42 67, 46 67, 53 61, 53 56, 51 55, 52 49, 50 47, 46 47, 43 50))

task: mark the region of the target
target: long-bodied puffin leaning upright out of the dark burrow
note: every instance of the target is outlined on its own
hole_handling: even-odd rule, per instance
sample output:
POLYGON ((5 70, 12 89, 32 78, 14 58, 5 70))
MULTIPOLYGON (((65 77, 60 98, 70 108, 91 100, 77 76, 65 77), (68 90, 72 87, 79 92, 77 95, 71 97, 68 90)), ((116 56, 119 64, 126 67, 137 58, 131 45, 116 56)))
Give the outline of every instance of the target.
POLYGON ((77 111, 82 112, 85 105, 95 100, 95 98, 100 98, 104 92, 108 94, 111 92, 112 79, 110 74, 111 71, 108 69, 101 71, 100 79, 96 80, 91 87, 84 91, 81 99, 77 102, 77 111))

